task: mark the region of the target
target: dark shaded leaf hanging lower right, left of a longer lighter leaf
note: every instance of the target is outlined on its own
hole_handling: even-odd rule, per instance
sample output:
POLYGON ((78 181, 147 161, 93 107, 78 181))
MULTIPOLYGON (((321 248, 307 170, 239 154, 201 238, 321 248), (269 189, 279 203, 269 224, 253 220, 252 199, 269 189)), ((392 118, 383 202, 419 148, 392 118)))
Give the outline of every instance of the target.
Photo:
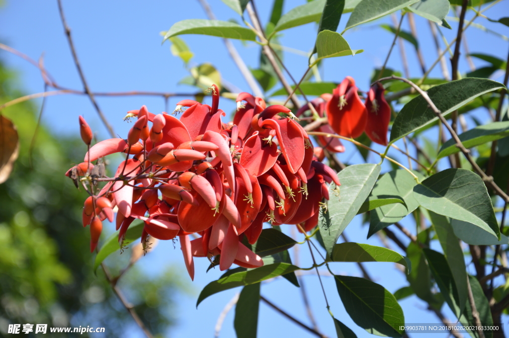
MULTIPOLYGON (((435 282, 437 282, 440 293, 447 302, 447 305, 449 305, 450 310, 459 318, 463 309, 460 308, 458 289, 456 288, 453 273, 450 271, 447 260, 444 255, 437 251, 427 248, 422 249, 422 251, 426 255, 431 273, 435 282)), ((465 300, 466 298, 463 300, 463 304, 465 304, 465 300)))

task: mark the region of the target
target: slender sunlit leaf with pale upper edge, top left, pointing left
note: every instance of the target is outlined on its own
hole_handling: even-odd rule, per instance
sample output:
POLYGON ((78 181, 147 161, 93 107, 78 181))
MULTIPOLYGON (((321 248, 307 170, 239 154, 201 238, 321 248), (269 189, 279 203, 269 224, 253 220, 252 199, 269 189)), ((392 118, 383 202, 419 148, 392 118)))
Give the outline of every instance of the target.
POLYGON ((202 34, 214 37, 256 41, 256 34, 237 23, 221 20, 187 19, 175 23, 164 36, 163 42, 182 34, 202 34))

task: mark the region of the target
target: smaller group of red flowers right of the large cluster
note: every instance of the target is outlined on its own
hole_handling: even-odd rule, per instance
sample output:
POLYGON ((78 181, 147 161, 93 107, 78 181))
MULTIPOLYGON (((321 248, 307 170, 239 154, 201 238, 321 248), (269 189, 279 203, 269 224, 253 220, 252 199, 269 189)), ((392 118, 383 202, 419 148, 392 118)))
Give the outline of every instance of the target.
MULTIPOLYGON (((385 101, 383 85, 379 82, 374 84, 367 93, 365 103, 362 103, 357 91, 354 79, 347 76, 333 90, 332 95, 323 94, 321 98, 311 102, 320 117, 323 117, 324 111, 327 112, 329 125, 320 127, 318 131, 331 134, 335 132, 351 138, 359 137, 362 132, 366 132, 373 142, 387 145, 390 106, 385 101)), ((306 106, 301 108, 297 116, 306 109, 306 106)), ((345 151, 345 147, 337 138, 319 136, 319 140, 329 151, 345 151)))

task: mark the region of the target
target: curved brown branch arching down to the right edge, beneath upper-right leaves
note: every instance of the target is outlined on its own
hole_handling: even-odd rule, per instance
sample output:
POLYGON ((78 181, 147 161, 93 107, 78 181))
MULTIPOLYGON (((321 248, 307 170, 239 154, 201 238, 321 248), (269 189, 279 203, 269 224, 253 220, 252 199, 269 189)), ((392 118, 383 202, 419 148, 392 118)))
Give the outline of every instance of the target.
POLYGON ((419 88, 419 86, 417 86, 412 81, 410 81, 408 79, 405 79, 403 77, 399 77, 399 76, 392 75, 390 77, 382 78, 382 79, 380 79, 378 81, 390 80, 390 79, 397 79, 397 80, 406 82, 406 83, 410 84, 412 87, 414 87, 415 90, 418 91, 418 93, 422 96, 422 98, 425 99, 426 102, 428 102, 429 107, 433 110, 435 115, 437 115, 437 117, 442 121, 443 125, 447 128, 447 130, 449 131, 450 135, 456 141, 456 146, 461 150, 461 152, 463 152, 463 155, 465 155, 465 157, 467 158, 468 162, 472 165, 472 168, 481 176, 481 178, 483 178, 483 181, 485 182, 485 184, 486 185, 490 185, 490 187, 495 191, 495 193, 498 196, 502 197, 502 199, 504 201, 509 202, 509 196, 507 196, 507 194, 505 194, 500 189, 500 187, 497 186, 497 184, 493 181, 493 177, 486 175, 486 173, 483 171, 483 169, 479 168, 477 163, 472 159, 472 157, 470 156, 470 150, 465 148, 465 146, 461 142, 460 138, 458 137, 458 134, 453 130, 453 128, 451 128, 451 126, 449 125, 449 122, 447 122, 447 120, 443 117, 443 115, 440 112, 440 110, 435 106, 433 101, 431 101, 430 97, 428 96, 427 91, 422 90, 421 88, 419 88))

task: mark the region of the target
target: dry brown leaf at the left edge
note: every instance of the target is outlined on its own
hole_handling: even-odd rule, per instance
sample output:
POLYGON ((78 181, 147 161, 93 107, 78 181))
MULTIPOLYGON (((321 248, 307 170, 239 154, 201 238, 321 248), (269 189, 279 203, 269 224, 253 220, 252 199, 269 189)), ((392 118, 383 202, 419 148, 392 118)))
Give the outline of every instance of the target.
POLYGON ((19 137, 16 127, 10 119, 0 115, 0 184, 9 178, 18 152, 19 137))

